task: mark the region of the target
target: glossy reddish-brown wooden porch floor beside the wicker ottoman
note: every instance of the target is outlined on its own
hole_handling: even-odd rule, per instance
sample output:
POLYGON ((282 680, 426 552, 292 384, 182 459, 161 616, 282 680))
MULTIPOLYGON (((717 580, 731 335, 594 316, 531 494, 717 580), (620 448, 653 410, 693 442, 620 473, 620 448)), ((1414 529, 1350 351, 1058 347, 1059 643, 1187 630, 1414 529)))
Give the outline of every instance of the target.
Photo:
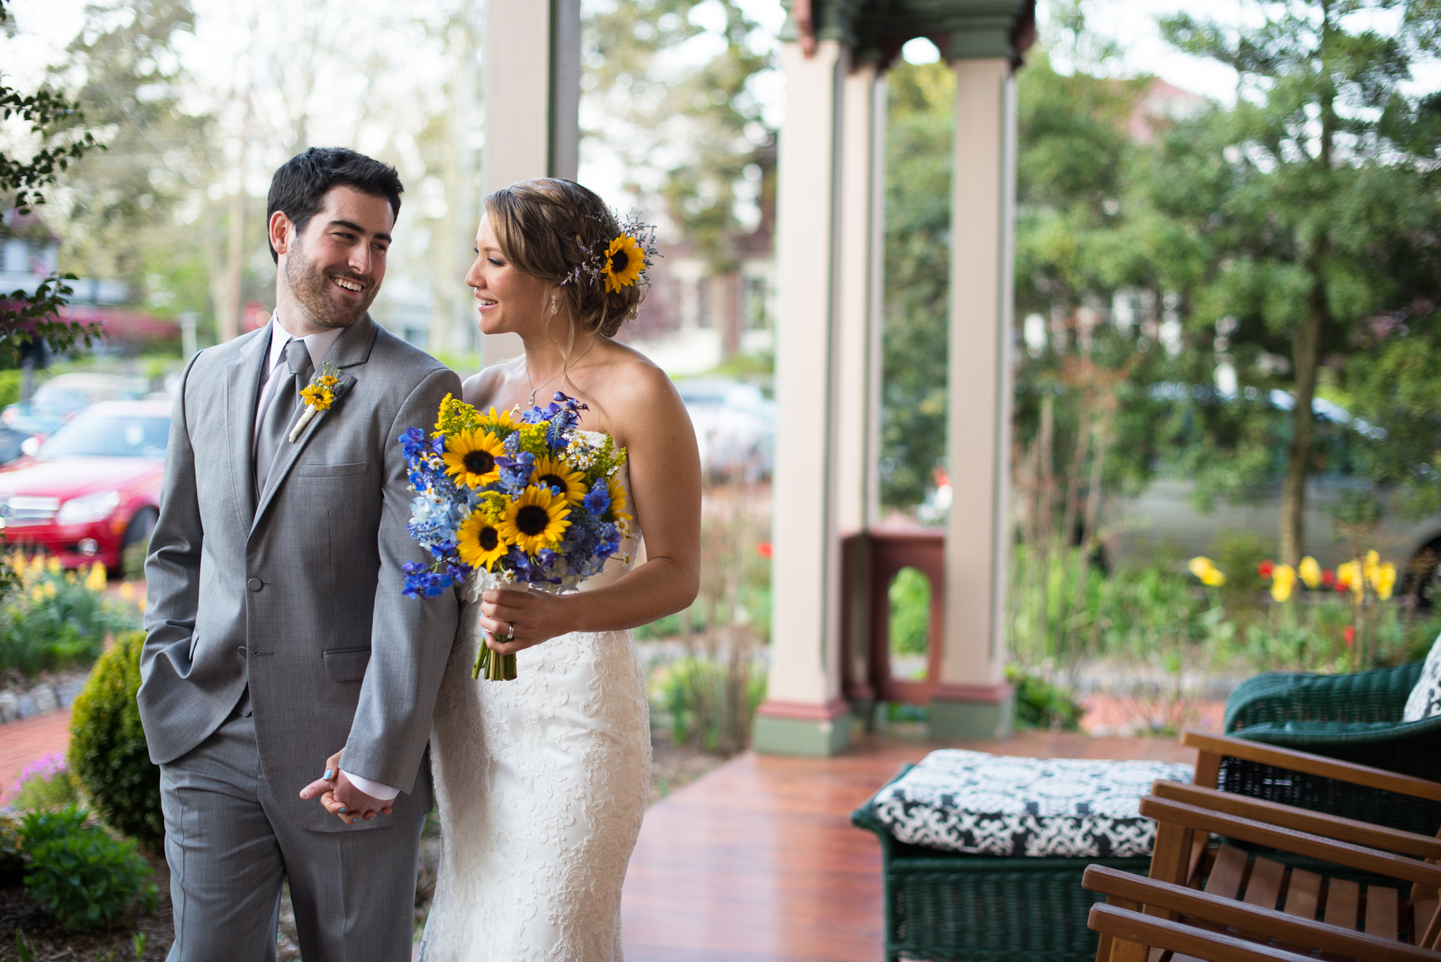
POLYGON ((880 847, 850 825, 935 747, 1195 763, 1173 738, 1030 733, 1006 741, 860 741, 836 759, 752 751, 646 812, 623 899, 627 962, 879 962, 880 847))

